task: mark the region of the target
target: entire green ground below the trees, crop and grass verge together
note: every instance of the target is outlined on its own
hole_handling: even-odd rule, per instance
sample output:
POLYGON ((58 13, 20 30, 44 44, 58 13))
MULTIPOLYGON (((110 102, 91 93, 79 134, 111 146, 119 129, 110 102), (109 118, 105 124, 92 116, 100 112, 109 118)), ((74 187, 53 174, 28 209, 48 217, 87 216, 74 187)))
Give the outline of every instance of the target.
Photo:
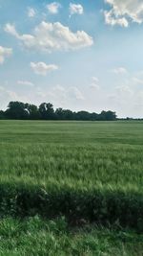
POLYGON ((143 255, 143 122, 0 121, 0 216, 1 255, 143 255))

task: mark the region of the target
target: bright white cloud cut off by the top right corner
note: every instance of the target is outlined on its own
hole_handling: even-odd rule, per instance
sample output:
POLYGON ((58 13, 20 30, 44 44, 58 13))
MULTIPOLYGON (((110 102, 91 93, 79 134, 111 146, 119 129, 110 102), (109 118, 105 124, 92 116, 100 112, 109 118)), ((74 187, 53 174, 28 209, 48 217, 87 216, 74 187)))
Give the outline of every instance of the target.
POLYGON ((105 0, 111 6, 110 11, 104 12, 107 24, 129 26, 129 22, 143 22, 142 0, 105 0))

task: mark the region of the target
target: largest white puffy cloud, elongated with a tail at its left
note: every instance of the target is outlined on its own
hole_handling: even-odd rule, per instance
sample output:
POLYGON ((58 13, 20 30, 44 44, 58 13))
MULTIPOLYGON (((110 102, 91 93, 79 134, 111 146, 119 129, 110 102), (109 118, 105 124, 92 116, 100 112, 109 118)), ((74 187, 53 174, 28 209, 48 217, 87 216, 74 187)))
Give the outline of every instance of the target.
POLYGON ((49 23, 42 21, 33 31, 33 35, 19 35, 15 27, 6 24, 5 31, 14 35, 23 42, 27 48, 41 51, 77 50, 93 44, 92 37, 84 31, 72 33, 69 27, 60 22, 49 23))

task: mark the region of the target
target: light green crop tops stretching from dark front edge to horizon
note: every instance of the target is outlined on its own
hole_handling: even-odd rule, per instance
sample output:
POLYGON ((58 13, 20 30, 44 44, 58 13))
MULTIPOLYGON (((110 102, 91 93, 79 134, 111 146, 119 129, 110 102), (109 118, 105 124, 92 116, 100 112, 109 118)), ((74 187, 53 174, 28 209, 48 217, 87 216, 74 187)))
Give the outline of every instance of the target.
POLYGON ((0 121, 1 180, 143 189, 142 122, 0 121))

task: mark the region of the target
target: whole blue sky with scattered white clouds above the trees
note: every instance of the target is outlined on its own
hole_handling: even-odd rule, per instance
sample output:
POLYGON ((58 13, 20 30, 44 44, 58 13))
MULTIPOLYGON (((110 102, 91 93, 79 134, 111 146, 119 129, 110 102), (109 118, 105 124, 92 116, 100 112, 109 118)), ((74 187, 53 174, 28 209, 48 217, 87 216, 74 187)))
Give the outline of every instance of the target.
POLYGON ((0 0, 0 108, 143 117, 142 49, 142 0, 0 0))

